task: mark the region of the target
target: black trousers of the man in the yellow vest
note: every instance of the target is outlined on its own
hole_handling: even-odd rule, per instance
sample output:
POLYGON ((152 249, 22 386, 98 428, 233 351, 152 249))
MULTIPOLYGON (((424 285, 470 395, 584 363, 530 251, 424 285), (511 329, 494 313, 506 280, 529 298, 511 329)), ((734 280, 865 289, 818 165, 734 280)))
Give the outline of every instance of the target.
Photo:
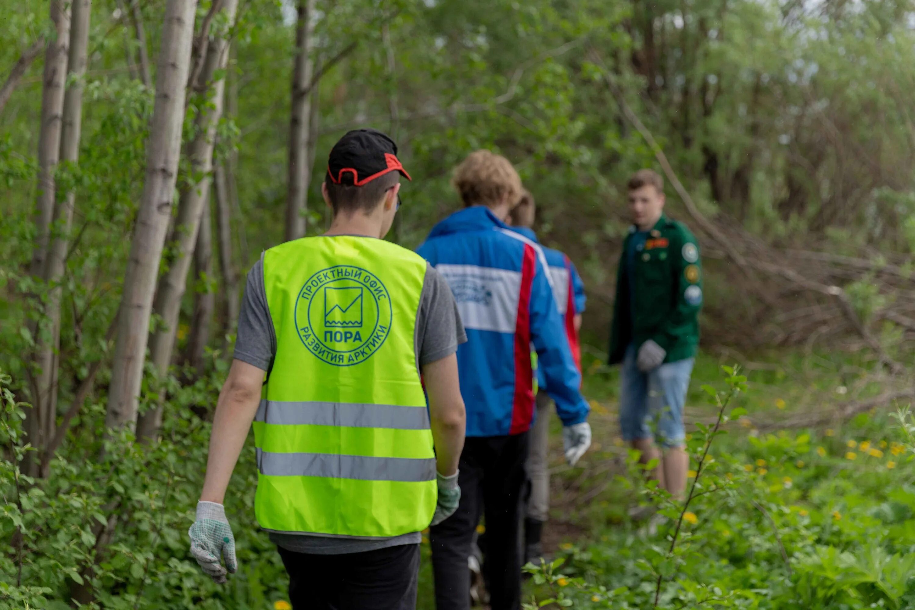
POLYGON ((308 555, 277 547, 293 610, 414 610, 419 545, 308 555))

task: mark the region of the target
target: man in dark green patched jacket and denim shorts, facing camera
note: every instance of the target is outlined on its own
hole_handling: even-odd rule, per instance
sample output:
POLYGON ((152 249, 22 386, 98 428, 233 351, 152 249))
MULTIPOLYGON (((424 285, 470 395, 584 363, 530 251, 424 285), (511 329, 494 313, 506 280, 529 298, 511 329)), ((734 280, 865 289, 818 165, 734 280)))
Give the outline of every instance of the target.
POLYGON ((619 424, 643 464, 659 458, 654 476, 662 487, 682 497, 689 469, 684 401, 704 296, 699 244, 683 223, 663 215, 656 172, 636 172, 628 189, 632 226, 619 259, 609 350, 609 364, 622 364, 619 424))

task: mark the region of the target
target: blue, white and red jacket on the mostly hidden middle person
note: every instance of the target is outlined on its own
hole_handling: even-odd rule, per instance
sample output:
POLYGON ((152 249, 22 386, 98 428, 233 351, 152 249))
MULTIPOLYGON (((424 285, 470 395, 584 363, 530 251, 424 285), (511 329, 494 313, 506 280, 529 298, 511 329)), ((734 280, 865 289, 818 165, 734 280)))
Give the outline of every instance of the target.
MULTIPOLYGON (((511 230, 523 235, 527 239, 540 244, 537 234, 527 227, 511 227, 511 230)), ((544 251, 546 264, 549 266, 550 277, 553 279, 553 297, 559 308, 559 315, 563 317, 565 337, 568 338, 569 348, 572 349, 572 358, 575 359, 578 370, 581 370, 581 342, 578 340, 578 331, 575 327, 575 316, 585 311, 587 297, 585 296, 585 283, 575 268, 572 260, 563 252, 540 246, 544 251)), ((544 377, 544 369, 537 369, 537 385, 550 393, 550 387, 544 377)))

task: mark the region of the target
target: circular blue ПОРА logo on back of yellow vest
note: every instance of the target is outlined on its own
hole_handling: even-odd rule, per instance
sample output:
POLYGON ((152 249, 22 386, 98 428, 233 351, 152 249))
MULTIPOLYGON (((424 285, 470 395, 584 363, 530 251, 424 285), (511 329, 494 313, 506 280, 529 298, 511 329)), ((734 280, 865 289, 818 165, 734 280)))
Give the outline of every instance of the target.
POLYGON ((315 273, 296 298, 296 332, 312 354, 349 367, 382 347, 391 332, 391 295, 373 273, 351 265, 315 273))

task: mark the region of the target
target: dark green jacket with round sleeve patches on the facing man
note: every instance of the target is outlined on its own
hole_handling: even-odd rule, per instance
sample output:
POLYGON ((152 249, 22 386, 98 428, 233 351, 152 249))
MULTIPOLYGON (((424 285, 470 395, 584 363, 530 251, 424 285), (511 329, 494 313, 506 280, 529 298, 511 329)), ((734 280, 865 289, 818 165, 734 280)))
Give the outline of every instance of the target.
POLYGON ((699 344, 702 266, 699 245, 685 225, 662 216, 642 251, 636 252, 635 298, 630 295, 626 252, 635 228, 623 241, 613 305, 609 363, 622 362, 630 343, 649 339, 667 351, 664 362, 692 358, 699 344), (634 311, 630 311, 633 308, 634 311))

